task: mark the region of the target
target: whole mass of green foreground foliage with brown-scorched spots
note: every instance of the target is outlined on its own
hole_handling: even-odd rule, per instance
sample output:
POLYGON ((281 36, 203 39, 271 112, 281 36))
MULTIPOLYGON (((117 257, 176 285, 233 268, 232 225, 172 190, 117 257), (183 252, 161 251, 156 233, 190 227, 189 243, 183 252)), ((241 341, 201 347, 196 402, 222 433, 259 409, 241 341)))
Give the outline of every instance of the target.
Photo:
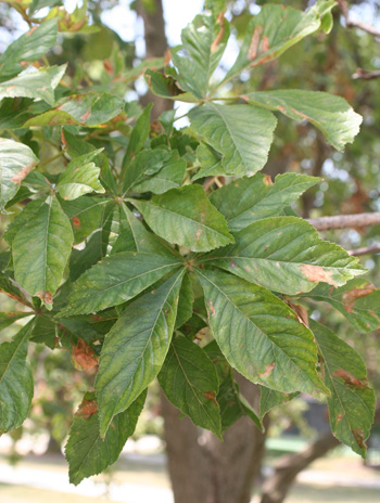
MULTIPOLYGON (((156 377, 174 405, 220 439, 242 416, 263 428, 273 407, 322 394, 333 434, 365 453, 375 398, 364 363, 294 302, 327 301, 367 332, 380 323, 379 291, 356 278, 365 272, 356 258, 291 215, 318 179, 258 172, 274 112, 311 121, 337 149, 362 118, 322 92, 232 96, 225 87, 329 26, 334 2, 318 0, 306 13, 264 5, 220 81, 213 75, 230 29, 223 2, 208 3, 170 65, 144 67, 153 93, 194 104, 186 129, 175 128, 174 112, 151 125, 151 106, 126 103, 106 85, 71 89, 66 66, 46 59, 23 73, 65 30, 55 8, 0 59, 0 203, 14 212, 0 289, 27 307, 1 313, 0 328, 31 318, 0 346, 0 431, 18 427, 30 407, 28 343, 96 367, 66 446, 73 483, 117 460, 156 377), (210 180, 226 184, 211 191, 210 180), (259 413, 235 370, 261 386, 259 413)), ((87 26, 74 21, 66 30, 87 26)))

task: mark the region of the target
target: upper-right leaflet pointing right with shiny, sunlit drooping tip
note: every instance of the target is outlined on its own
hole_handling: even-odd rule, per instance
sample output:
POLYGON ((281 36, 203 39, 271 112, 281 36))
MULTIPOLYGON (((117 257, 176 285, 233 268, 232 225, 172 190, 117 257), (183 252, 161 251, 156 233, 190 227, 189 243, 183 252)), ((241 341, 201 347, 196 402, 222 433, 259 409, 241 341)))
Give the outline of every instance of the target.
POLYGON ((308 120, 339 151, 354 141, 363 120, 343 98, 327 92, 287 89, 251 92, 244 99, 253 105, 282 112, 291 119, 308 120))

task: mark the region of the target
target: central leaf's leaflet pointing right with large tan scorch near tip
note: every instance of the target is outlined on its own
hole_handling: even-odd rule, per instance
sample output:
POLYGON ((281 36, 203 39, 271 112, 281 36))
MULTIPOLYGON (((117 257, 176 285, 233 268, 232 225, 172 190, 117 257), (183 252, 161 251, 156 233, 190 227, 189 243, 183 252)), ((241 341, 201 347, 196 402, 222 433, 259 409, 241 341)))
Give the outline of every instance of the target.
POLYGON ((235 245, 199 260, 287 295, 309 292, 319 282, 340 286, 366 272, 355 257, 321 241, 313 225, 301 218, 258 220, 235 237, 235 245))

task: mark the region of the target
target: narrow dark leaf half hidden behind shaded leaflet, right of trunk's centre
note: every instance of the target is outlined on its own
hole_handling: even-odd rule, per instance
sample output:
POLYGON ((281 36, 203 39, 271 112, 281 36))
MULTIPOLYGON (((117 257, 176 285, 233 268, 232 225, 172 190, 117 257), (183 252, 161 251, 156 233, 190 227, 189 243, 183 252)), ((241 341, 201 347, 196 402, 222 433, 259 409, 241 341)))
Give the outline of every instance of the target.
POLYGON ((216 400, 220 407, 221 431, 228 429, 243 416, 250 417, 257 428, 263 431, 264 428, 256 412, 239 391, 239 385, 233 377, 233 370, 223 356, 216 341, 213 340, 207 344, 204 350, 215 364, 220 383, 216 400))

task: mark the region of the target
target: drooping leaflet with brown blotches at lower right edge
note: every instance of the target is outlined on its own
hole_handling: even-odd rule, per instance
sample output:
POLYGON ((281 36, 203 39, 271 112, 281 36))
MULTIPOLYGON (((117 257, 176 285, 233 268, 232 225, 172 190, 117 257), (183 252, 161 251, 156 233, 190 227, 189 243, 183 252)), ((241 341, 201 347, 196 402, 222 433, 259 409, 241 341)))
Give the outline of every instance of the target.
POLYGON ((369 387, 360 356, 327 326, 311 320, 321 357, 330 424, 338 440, 365 456, 375 413, 375 392, 369 387))

